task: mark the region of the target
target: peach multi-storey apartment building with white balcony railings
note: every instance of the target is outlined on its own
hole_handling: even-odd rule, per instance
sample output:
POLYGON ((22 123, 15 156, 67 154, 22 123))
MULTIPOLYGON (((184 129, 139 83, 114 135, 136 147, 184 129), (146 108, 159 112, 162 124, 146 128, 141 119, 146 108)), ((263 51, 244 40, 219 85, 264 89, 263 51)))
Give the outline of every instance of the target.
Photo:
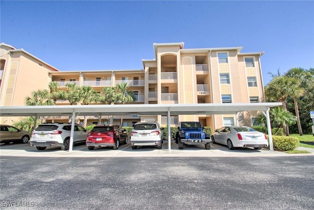
MULTIPOLYGON (((264 102, 262 69, 259 53, 240 53, 242 47, 183 49, 184 43, 154 43, 155 58, 142 60, 143 69, 60 71, 23 49, 0 44, 0 106, 23 106, 31 91, 48 89, 58 82, 60 89, 67 83, 91 86, 97 91, 127 83, 136 99, 131 104, 198 104, 198 103, 255 103, 264 102)), ((56 105, 69 105, 57 101, 56 105)), ((199 120, 213 129, 223 125, 251 126, 257 112, 237 115, 171 116, 171 126, 179 121, 199 120)), ((87 116, 87 124, 106 124, 108 116, 87 116)), ((18 120, 2 117, 1 123, 18 120)), ((47 121, 67 121, 66 117, 49 117, 47 121)), ((80 121, 83 116, 79 116, 80 121)), ((120 124, 121 116, 113 116, 120 124)), ((157 120, 167 123, 166 116, 123 116, 123 126, 137 121, 157 120)))

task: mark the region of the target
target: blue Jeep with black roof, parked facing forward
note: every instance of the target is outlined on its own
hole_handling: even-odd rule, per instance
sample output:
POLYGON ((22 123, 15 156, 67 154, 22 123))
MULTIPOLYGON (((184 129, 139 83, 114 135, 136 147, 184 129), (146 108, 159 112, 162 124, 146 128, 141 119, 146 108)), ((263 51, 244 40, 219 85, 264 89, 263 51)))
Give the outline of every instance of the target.
POLYGON ((179 122, 176 143, 179 145, 179 149, 183 149, 183 145, 185 144, 205 145, 205 149, 210 150, 211 139, 209 134, 204 132, 201 122, 184 121, 179 122))

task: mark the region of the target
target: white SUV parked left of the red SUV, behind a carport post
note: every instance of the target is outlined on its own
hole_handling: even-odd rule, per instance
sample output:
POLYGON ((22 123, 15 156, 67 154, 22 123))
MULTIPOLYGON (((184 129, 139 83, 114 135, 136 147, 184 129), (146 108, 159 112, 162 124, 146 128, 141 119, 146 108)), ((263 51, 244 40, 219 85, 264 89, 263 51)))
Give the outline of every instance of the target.
MULTIPOLYGON (((88 132, 82 126, 75 124, 73 142, 85 142, 88 132)), ((61 147, 62 150, 70 148, 71 124, 69 123, 44 123, 32 131, 30 146, 37 150, 47 147, 61 147)))

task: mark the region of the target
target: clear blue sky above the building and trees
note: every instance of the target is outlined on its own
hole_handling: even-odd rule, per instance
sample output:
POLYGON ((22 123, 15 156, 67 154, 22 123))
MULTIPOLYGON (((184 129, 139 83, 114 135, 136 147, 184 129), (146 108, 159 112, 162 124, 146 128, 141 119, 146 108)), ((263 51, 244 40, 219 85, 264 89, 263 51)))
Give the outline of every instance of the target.
POLYGON ((0 42, 61 71, 143 69, 153 43, 242 46, 268 72, 314 67, 314 1, 0 1, 0 42))

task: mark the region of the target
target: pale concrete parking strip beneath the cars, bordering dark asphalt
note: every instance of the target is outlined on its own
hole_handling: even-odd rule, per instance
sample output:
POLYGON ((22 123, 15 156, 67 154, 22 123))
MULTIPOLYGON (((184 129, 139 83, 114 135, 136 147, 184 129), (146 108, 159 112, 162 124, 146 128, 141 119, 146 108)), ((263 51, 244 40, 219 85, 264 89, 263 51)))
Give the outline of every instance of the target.
POLYGON ((75 144, 73 151, 64 151, 59 147, 37 150, 27 144, 1 144, 1 156, 38 156, 38 157, 258 157, 258 156, 292 156, 292 155, 314 155, 310 154, 287 154, 281 151, 270 151, 268 149, 254 150, 253 148, 239 148, 229 150, 226 146, 211 144, 211 150, 205 150, 204 145, 184 145, 183 150, 172 141, 171 151, 168 150, 168 142, 164 141, 162 149, 155 147, 139 147, 131 149, 130 143, 121 145, 118 150, 109 147, 99 147, 95 150, 88 150, 84 143, 75 144))

